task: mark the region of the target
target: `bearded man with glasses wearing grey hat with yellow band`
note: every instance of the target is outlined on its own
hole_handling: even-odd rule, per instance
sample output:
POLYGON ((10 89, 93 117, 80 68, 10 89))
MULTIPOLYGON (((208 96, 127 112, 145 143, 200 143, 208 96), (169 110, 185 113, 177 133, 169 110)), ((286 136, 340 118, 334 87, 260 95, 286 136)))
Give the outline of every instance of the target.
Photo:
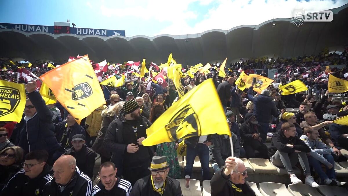
POLYGON ((135 182, 130 196, 182 196, 179 181, 167 176, 169 164, 166 157, 152 157, 148 169, 151 174, 135 182))

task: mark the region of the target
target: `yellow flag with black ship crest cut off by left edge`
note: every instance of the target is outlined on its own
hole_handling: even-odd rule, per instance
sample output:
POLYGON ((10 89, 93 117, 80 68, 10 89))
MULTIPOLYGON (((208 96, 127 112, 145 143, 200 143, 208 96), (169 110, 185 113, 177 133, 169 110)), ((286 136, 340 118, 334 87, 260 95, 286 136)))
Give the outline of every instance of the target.
POLYGON ((25 100, 24 84, 0 80, 0 121, 20 122, 25 100))

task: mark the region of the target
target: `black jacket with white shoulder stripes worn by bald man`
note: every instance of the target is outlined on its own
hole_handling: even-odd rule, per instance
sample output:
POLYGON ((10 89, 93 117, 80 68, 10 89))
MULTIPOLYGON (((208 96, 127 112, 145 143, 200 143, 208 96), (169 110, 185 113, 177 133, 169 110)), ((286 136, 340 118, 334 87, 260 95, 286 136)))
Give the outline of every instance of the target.
POLYGON ((76 173, 72 180, 65 185, 64 190, 61 192, 61 185, 56 183, 53 178, 42 190, 41 196, 90 196, 92 193, 93 183, 89 177, 81 172, 76 166, 76 173))

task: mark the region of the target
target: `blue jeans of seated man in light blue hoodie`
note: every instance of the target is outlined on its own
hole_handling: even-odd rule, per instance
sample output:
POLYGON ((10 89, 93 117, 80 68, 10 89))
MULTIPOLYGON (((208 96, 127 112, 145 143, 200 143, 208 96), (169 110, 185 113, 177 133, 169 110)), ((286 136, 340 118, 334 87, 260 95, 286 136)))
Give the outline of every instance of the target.
MULTIPOLYGON (((332 165, 335 165, 334 160, 333 160, 333 156, 331 154, 324 154, 323 156, 332 165)), ((315 159, 314 157, 308 156, 308 162, 315 169, 315 172, 319 175, 319 177, 322 180, 336 178, 335 168, 334 167, 329 169, 327 166, 325 166, 325 168, 326 168, 326 173, 325 173, 323 171, 321 162, 318 161, 317 159, 315 159)))

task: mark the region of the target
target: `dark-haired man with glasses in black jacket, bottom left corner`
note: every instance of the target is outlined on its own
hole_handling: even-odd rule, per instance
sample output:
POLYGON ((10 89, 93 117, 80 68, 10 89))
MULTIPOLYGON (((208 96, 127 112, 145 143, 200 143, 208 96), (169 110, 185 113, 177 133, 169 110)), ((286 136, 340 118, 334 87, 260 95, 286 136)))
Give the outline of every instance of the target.
POLYGON ((17 172, 2 189, 1 196, 37 196, 45 184, 52 180, 52 167, 46 164, 46 150, 34 150, 25 155, 23 169, 17 172))

